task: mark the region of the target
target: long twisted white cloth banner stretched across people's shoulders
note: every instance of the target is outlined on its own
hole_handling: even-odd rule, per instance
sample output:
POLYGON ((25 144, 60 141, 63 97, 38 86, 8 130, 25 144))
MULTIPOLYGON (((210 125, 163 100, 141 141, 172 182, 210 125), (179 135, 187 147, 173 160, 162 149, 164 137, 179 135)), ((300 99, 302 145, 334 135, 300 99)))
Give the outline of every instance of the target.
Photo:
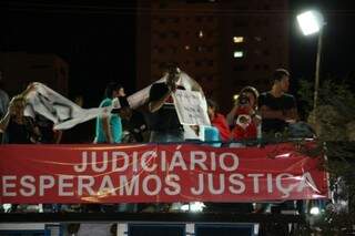
MULTIPOLYGON (((166 75, 155 81, 155 83, 164 82, 165 80, 166 75)), ((196 85, 196 82, 184 72, 181 72, 179 83, 183 85, 186 89, 186 91, 194 90, 196 85)), ((149 92, 151 86, 152 84, 128 96, 128 102, 132 109, 136 109, 149 101, 149 92)), ((200 92, 195 93, 200 94, 199 107, 201 107, 206 114, 207 106, 205 98, 200 92)), ((62 96, 61 94, 57 93, 55 91, 51 90, 50 88, 41 83, 36 83, 34 90, 27 95, 27 100, 28 105, 24 110, 24 115, 34 117, 36 113, 41 114, 54 123, 54 130, 68 130, 75 126, 77 124, 94 119, 103 113, 109 114, 111 113, 112 109, 121 107, 119 100, 114 99, 112 102, 112 106, 82 109, 69 99, 62 96)), ((183 110, 178 107, 176 110, 184 112, 183 110)), ((200 119, 197 122, 192 123, 205 125, 205 122, 206 121, 204 121, 203 119, 200 119)), ((182 122, 182 124, 184 123, 182 122)), ((206 125, 209 124, 210 121, 207 120, 206 125)))

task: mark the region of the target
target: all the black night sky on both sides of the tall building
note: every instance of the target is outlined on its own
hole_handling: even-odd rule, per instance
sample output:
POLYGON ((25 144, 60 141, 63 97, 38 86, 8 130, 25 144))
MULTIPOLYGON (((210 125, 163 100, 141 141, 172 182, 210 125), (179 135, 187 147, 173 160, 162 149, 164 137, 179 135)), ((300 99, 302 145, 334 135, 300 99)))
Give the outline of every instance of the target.
MULTIPOLYGON (((318 9, 324 30, 322 78, 354 76, 355 1, 291 0, 291 72, 313 78, 316 37, 301 34, 295 16, 307 7, 318 9), (354 3, 352 3, 354 2, 354 3)), ((55 53, 70 64, 70 95, 83 94, 84 106, 97 106, 108 81, 121 81, 128 93, 135 80, 135 2, 92 4, 17 1, 0 3, 1 51, 55 53)), ((321 80, 322 80, 321 78, 321 80)))

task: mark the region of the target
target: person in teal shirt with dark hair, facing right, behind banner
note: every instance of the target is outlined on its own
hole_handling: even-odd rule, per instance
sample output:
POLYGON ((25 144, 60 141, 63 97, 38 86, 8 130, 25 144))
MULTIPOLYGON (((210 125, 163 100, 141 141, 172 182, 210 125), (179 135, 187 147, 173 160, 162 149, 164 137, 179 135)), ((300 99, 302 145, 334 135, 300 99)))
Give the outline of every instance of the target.
MULTIPOLYGON (((105 90, 105 99, 101 102, 100 107, 112 105, 112 100, 124 96, 124 89, 119 83, 109 83, 105 90)), ((121 143, 122 122, 119 114, 102 114, 97 117, 97 136, 95 143, 121 143)))

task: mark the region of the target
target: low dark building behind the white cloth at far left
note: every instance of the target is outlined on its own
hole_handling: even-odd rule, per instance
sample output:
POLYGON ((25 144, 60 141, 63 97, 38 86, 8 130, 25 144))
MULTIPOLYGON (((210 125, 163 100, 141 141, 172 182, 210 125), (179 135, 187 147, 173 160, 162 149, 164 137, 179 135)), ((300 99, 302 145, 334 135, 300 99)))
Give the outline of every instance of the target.
POLYGON ((0 70, 10 95, 20 93, 30 82, 41 82, 68 94, 69 65, 55 54, 1 52, 0 70))

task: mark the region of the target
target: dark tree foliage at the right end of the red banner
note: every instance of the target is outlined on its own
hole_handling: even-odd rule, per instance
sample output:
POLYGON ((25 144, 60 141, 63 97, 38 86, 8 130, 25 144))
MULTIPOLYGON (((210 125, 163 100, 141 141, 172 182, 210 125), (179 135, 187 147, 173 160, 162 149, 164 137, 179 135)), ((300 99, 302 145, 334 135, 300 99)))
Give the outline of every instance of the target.
POLYGON ((333 193, 333 201, 316 226, 321 235, 345 235, 355 225, 355 96, 342 81, 326 80, 314 110, 313 86, 304 80, 300 85, 308 123, 316 131, 318 144, 325 147, 333 193))

